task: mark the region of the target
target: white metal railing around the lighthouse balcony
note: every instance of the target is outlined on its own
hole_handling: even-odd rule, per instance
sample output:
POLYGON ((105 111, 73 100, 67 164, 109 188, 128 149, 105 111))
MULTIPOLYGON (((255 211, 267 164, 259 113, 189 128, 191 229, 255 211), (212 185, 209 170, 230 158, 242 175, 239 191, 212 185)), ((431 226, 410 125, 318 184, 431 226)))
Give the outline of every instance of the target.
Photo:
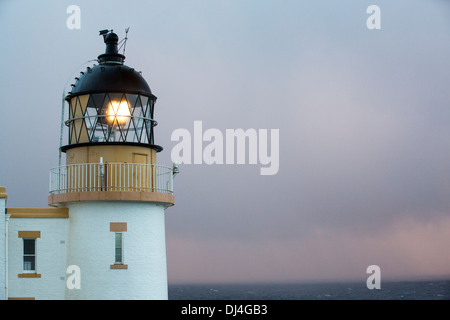
POLYGON ((50 194, 90 191, 173 193, 173 169, 139 163, 80 163, 50 169, 50 194))

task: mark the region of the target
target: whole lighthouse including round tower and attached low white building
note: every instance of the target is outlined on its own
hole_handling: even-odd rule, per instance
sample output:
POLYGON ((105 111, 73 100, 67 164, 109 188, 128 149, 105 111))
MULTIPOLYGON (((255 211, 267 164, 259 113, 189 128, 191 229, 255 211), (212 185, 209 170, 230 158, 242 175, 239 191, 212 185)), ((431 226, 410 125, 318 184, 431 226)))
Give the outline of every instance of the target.
POLYGON ((115 33, 65 96, 66 164, 48 208, 9 208, 0 187, 0 299, 167 299, 165 209, 176 166, 156 162, 156 97, 115 33))

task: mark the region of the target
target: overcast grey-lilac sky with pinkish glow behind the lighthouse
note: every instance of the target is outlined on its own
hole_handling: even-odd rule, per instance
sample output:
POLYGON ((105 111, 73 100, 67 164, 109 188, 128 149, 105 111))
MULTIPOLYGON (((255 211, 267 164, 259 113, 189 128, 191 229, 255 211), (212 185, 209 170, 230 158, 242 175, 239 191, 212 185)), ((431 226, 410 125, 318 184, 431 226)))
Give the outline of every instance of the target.
POLYGON ((126 27, 125 64, 158 97, 160 164, 196 120, 280 134, 276 175, 180 166, 170 283, 450 276, 450 2, 2 0, 8 207, 47 206, 63 91, 104 52, 98 31, 126 27))

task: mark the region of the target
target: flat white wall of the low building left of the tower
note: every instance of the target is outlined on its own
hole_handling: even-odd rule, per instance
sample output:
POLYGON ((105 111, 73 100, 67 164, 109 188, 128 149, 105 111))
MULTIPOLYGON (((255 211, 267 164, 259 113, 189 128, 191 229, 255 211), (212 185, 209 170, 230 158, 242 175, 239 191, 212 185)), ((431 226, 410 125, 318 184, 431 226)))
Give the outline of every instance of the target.
POLYGON ((64 299, 67 218, 10 218, 8 234, 9 297, 64 299), (23 273, 23 239, 19 231, 40 231, 36 244, 36 272, 41 278, 19 278, 23 273))

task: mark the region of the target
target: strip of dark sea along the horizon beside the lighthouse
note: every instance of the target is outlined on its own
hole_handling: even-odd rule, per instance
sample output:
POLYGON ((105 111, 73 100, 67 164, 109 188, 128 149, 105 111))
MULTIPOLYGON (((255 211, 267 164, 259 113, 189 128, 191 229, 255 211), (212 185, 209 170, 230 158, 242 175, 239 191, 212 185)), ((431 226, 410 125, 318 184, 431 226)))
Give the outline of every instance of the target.
POLYGON ((450 280, 366 283, 169 285, 171 300, 450 300, 450 280))

